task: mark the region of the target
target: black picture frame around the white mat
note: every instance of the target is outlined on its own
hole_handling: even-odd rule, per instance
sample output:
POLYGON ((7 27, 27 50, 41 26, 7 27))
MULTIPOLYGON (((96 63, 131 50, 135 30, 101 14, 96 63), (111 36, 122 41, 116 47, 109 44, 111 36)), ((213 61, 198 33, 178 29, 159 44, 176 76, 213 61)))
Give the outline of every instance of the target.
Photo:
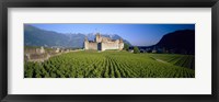
MULTIPOLYGON (((2 0, 0 1, 0 100, 2 102, 219 102, 219 0, 2 0), (211 8, 212 94, 8 94, 8 8, 211 8)), ((131 90, 131 89, 130 89, 131 90)), ((135 90, 135 89, 132 89, 135 90)))

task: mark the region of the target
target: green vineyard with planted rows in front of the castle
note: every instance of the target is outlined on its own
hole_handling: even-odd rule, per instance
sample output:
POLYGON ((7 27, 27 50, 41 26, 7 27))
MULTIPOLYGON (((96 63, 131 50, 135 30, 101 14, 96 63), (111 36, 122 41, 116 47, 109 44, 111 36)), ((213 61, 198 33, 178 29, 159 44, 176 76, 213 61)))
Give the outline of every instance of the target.
POLYGON ((194 78, 191 55, 76 52, 25 63, 25 78, 194 78))

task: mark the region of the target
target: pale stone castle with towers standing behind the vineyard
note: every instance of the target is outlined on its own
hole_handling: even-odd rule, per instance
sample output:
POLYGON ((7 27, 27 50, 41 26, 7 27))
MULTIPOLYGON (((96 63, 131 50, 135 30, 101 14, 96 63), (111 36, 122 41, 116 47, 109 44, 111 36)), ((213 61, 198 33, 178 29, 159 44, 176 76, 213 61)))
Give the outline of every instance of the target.
POLYGON ((100 33, 95 35, 94 41, 88 41, 88 37, 84 39, 84 49, 96 49, 96 50, 106 50, 106 49, 118 49, 124 48, 123 39, 111 39, 110 37, 101 36, 100 33))

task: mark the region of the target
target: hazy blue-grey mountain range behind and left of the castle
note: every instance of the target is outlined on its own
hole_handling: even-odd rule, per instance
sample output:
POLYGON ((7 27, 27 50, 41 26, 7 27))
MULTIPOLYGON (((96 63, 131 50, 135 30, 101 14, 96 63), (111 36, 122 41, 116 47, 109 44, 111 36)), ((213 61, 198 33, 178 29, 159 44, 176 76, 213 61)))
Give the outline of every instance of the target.
MULTIPOLYGON (((24 25, 24 45, 25 46, 48 46, 48 47, 83 47, 83 42, 85 36, 90 41, 95 38, 95 34, 62 34, 53 31, 45 31, 37 29, 33 25, 24 25)), ((104 34, 103 36, 112 36, 104 34)), ((120 36, 114 34, 113 39, 122 38, 120 36)), ((125 43, 130 44, 128 41, 124 39, 125 43)))

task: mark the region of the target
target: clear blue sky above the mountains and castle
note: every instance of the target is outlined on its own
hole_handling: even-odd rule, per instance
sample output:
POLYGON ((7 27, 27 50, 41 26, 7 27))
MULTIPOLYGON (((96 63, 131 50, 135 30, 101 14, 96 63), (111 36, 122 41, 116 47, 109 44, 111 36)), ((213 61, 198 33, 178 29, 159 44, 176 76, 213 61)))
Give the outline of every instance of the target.
POLYGON ((177 30, 195 30, 195 24, 31 24, 58 33, 117 34, 136 46, 157 44, 163 35, 177 30))

